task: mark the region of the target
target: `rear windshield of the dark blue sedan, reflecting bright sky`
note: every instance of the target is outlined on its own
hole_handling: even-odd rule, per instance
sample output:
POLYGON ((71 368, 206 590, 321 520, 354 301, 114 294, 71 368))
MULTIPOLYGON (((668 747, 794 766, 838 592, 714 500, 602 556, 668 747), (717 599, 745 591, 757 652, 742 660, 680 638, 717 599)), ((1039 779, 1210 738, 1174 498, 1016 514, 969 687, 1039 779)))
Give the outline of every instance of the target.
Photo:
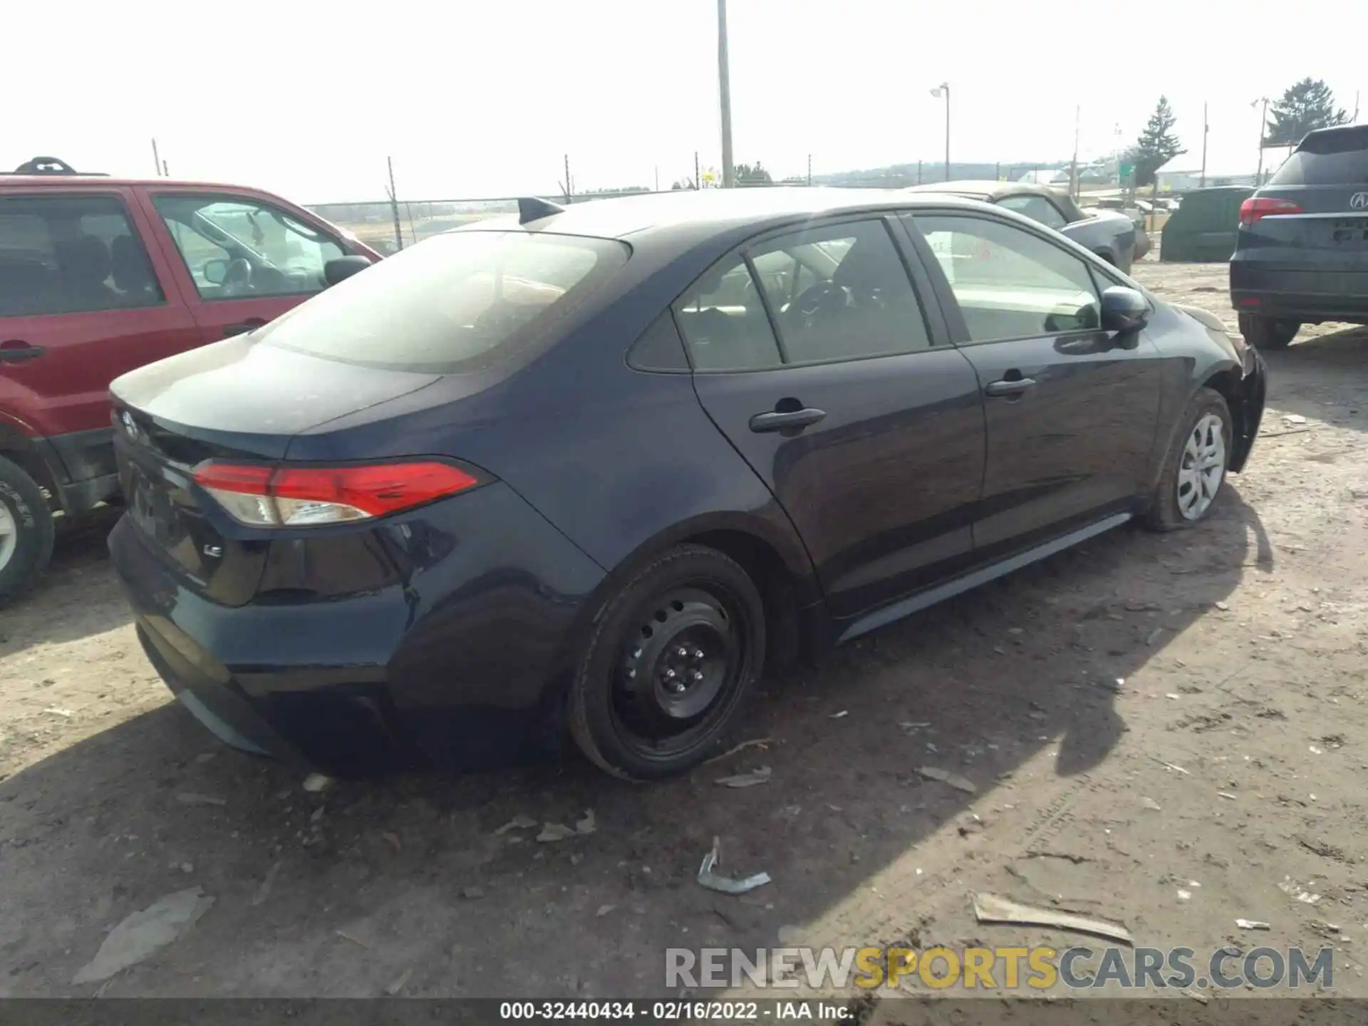
POLYGON ((259 338, 349 364, 471 373, 544 337, 627 263, 613 239, 523 231, 434 235, 327 289, 259 338))

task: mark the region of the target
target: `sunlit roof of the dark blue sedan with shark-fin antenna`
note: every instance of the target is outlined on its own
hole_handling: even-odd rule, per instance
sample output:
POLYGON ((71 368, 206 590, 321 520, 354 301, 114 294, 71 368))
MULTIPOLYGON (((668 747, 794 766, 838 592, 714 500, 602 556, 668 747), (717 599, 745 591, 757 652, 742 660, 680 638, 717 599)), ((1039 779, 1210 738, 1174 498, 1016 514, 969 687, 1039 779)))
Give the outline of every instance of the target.
MULTIPOLYGON (((735 227, 762 231, 821 215, 917 207, 974 205, 960 197, 908 196, 893 189, 839 189, 767 186, 750 189, 681 189, 670 193, 624 196, 611 200, 572 202, 557 213, 521 226, 532 231, 565 235, 596 235, 631 241, 698 237, 735 227)), ((516 218, 497 218, 456 231, 508 230, 516 218)))

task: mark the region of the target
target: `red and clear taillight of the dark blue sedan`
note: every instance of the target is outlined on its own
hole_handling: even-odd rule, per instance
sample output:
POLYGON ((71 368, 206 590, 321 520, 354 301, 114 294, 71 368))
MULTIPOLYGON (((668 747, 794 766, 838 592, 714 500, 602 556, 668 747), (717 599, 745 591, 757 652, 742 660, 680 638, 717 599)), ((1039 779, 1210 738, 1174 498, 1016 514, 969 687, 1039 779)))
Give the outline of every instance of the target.
POLYGON ((449 464, 293 466, 201 464, 194 480, 250 527, 311 527, 368 520, 421 506, 479 482, 449 464))

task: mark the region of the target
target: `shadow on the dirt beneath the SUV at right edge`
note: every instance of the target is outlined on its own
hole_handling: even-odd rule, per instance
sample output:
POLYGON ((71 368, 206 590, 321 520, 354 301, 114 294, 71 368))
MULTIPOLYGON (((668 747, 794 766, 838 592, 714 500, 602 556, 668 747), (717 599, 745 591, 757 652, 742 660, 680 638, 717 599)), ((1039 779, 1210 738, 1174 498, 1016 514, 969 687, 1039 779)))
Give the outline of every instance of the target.
MULTIPOLYGON (((1304 328, 1305 331, 1305 328, 1304 328)), ((1368 431, 1368 327, 1298 338, 1263 354, 1276 383, 1276 405, 1308 421, 1368 431)), ((1312 425, 1265 419, 1261 434, 1309 434, 1312 425)))

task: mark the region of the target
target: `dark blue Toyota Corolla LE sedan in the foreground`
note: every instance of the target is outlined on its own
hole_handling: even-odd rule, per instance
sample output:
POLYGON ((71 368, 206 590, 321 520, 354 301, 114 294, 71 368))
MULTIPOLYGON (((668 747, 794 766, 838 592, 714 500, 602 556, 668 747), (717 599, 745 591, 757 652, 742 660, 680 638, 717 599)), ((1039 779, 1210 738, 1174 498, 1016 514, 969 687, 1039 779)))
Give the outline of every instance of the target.
POLYGON ((765 673, 1200 523, 1257 352, 951 196, 676 193, 436 235, 114 383, 148 658, 332 773, 705 759, 765 673))

